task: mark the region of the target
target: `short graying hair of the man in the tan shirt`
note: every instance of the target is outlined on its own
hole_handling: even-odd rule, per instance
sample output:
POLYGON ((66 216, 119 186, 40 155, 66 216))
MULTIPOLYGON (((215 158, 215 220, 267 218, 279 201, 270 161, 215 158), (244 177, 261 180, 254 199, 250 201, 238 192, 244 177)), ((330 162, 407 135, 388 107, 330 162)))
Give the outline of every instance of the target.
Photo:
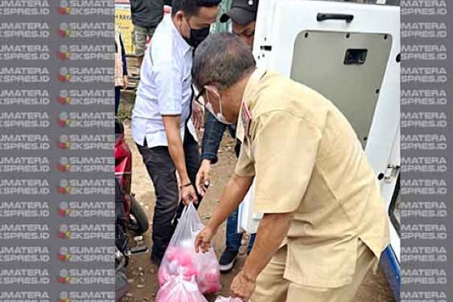
POLYGON ((255 69, 250 47, 231 33, 208 35, 195 51, 192 78, 201 90, 205 85, 226 89, 255 69))

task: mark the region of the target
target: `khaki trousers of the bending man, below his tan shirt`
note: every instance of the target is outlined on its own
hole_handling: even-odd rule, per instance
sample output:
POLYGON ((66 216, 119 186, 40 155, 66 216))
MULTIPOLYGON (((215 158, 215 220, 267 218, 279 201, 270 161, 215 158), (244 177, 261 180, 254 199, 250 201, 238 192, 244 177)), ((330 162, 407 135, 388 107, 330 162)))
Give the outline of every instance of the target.
MULTIPOLYGON (((351 302, 364 276, 378 260, 371 250, 359 240, 357 262, 352 283, 335 288, 310 287, 291 283, 283 278, 286 246, 272 257, 256 280, 256 290, 251 302, 351 302)), ((310 260, 302 260, 310 261, 310 260)))

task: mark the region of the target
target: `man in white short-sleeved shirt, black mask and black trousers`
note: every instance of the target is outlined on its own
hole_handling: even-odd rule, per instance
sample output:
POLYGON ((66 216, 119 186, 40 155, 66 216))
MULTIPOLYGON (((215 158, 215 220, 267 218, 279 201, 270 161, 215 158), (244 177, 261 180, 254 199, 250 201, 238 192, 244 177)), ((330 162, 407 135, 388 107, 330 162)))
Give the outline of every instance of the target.
MULTIPOLYGON (((198 206, 201 200, 194 187, 200 159, 192 122, 192 56, 215 22, 219 3, 174 0, 171 16, 165 16, 155 30, 141 66, 132 136, 155 188, 151 260, 156 264, 171 239, 174 218, 181 215, 184 205, 194 202, 198 206)), ((194 113, 198 113, 194 120, 199 127, 202 113, 194 113)))

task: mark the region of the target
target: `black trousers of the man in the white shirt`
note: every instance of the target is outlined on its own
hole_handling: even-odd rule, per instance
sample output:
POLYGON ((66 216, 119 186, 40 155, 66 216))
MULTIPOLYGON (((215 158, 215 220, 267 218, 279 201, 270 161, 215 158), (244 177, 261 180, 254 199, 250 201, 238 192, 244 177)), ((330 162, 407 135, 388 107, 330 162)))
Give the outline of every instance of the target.
MULTIPOLYGON (((192 184, 195 184, 200 166, 200 155, 197 141, 194 140, 187 128, 185 129, 183 146, 187 173, 192 184)), ((181 217, 184 204, 178 198, 179 191, 176 180, 176 168, 171 159, 168 147, 158 146, 148 148, 145 141, 144 146, 137 144, 137 148, 141 157, 143 157, 143 162, 146 165, 155 189, 152 229, 153 251, 151 253, 151 259, 154 262, 160 263, 162 257, 164 257, 171 235, 173 235, 176 228, 178 218, 181 217)), ((200 203, 201 196, 199 194, 198 199, 200 203)), ((195 207, 198 208, 199 203, 195 207)))

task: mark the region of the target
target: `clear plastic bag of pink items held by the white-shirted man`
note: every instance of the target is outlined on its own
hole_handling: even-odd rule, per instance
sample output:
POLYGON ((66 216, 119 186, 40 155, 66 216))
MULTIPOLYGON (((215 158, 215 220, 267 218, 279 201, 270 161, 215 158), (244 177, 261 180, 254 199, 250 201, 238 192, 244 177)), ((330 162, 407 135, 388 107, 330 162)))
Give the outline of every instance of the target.
POLYGON ((160 264, 158 281, 161 287, 177 276, 186 281, 193 276, 204 294, 215 293, 222 288, 220 266, 213 248, 208 253, 195 252, 195 238, 203 228, 197 209, 191 203, 181 214, 160 264))

